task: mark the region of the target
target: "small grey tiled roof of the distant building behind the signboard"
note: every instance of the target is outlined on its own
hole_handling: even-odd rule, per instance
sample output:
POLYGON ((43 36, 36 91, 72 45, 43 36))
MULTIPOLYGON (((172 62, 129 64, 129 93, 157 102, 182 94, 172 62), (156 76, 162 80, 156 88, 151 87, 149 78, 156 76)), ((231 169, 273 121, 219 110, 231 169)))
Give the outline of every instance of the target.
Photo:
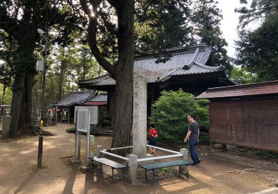
POLYGON ((63 100, 60 100, 53 106, 69 107, 71 105, 83 105, 97 94, 97 91, 76 91, 68 94, 63 100))

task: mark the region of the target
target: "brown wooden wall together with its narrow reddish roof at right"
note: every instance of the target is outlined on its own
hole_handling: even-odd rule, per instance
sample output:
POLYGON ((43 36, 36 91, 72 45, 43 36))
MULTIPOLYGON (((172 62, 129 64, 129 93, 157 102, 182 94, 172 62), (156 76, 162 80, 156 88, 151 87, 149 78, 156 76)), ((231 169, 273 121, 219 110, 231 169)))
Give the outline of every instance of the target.
POLYGON ((211 88, 196 98, 211 100, 211 142, 278 151, 278 81, 211 88))

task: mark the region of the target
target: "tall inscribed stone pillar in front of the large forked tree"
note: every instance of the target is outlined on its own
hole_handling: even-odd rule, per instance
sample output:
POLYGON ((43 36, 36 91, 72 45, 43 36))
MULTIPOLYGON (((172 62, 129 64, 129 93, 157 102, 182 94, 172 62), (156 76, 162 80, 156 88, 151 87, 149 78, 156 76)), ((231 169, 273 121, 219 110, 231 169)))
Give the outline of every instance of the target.
POLYGON ((133 154, 147 154, 147 78, 134 78, 133 83, 133 154))

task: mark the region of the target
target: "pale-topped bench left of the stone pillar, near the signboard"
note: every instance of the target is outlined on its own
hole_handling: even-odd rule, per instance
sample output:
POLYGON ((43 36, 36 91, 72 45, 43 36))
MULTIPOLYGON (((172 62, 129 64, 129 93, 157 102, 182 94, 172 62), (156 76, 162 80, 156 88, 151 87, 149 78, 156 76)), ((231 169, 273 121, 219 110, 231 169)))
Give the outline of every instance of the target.
POLYGON ((116 161, 112 161, 110 159, 106 159, 106 158, 98 158, 98 157, 89 157, 90 160, 92 161, 96 161, 97 163, 100 164, 100 169, 97 168, 97 170, 99 170, 99 172, 103 173, 104 175, 108 175, 109 177, 112 177, 113 179, 120 179, 119 177, 115 177, 114 176, 114 170, 117 169, 122 169, 122 177, 124 178, 124 168, 126 168, 126 164, 120 164, 116 161), (106 166, 110 166, 112 169, 112 176, 105 173, 102 170, 102 165, 106 165, 106 166))

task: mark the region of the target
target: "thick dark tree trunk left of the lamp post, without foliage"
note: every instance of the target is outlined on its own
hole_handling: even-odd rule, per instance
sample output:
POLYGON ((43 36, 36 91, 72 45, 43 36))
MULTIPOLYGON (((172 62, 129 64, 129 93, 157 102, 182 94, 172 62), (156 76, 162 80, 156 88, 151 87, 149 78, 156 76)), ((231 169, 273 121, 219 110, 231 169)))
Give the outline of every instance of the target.
POLYGON ((21 134, 31 134, 33 125, 33 79, 35 74, 35 60, 33 51, 35 42, 19 42, 15 66, 17 73, 13 84, 13 99, 10 109, 10 138, 17 138, 21 134))

